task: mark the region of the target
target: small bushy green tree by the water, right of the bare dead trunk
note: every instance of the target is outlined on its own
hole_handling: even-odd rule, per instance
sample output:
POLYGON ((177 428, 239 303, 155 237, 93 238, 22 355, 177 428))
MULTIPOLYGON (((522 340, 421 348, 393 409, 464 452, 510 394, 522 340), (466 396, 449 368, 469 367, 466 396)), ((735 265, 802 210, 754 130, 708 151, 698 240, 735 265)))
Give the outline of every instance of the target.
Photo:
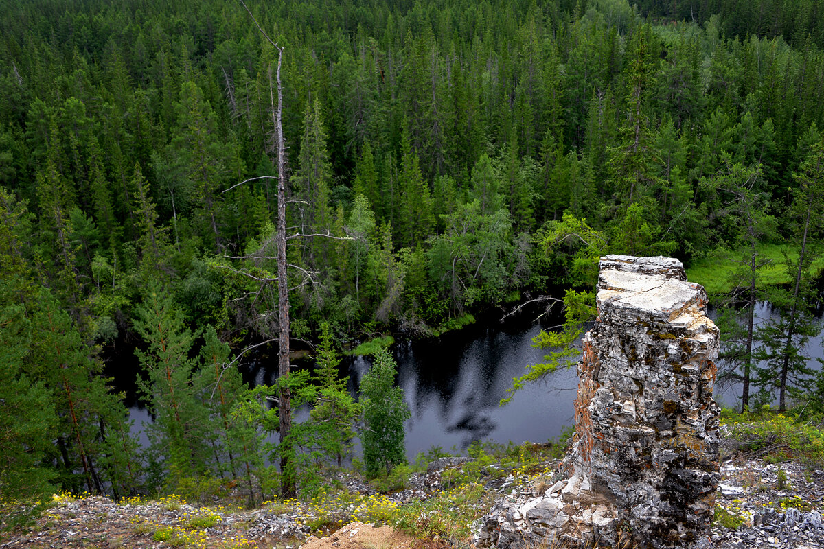
POLYGON ((392 466, 406 463, 404 422, 411 413, 403 389, 395 386, 395 375, 395 360, 381 349, 361 380, 363 461, 372 476, 382 470, 388 475, 392 466))

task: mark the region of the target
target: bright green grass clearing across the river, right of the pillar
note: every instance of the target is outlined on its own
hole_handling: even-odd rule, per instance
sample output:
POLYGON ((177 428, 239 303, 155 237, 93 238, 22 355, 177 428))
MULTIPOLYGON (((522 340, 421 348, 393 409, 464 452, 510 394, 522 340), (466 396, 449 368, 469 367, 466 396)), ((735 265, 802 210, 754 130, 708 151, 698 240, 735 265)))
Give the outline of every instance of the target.
MULTIPOLYGON (((789 284, 792 278, 787 272, 787 264, 784 252, 788 252, 790 258, 798 258, 798 249, 784 244, 759 244, 757 246, 759 259, 769 258, 772 263, 759 269, 759 286, 780 286, 789 284)), ((690 268, 686 269, 686 278, 691 282, 697 282, 704 286, 709 294, 728 294, 733 291, 735 285, 735 271, 739 263, 733 263, 730 259, 742 258, 744 252, 732 252, 718 249, 709 253, 705 258, 696 260, 690 268)), ((812 263, 810 274, 813 277, 821 274, 824 270, 824 258, 819 258, 812 263)))

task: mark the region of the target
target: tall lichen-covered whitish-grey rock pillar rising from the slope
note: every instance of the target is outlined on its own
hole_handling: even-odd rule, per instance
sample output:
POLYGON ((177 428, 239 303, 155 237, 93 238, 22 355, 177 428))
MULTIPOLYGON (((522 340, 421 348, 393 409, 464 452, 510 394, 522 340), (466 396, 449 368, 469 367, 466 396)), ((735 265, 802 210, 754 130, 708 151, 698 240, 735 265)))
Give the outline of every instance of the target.
POLYGON ((704 289, 673 258, 609 255, 583 337, 567 478, 502 505, 478 547, 565 541, 707 547, 719 483, 713 400, 719 330, 704 289))

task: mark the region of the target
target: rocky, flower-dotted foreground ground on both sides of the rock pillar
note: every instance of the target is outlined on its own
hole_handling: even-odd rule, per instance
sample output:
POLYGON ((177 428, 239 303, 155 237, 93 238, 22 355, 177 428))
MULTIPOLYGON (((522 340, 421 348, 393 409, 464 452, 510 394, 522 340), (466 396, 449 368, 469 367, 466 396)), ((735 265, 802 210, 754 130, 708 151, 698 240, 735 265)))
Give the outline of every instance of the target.
MULTIPOLYGON (((428 472, 412 475, 405 490, 387 496, 376 495, 358 477, 344 478, 350 493, 367 499, 344 505, 338 522, 344 526, 335 532, 335 527, 319 529, 313 516, 321 511, 306 504, 272 502, 245 510, 199 507, 176 498, 115 503, 99 496, 58 497, 30 530, 0 535, 0 549, 446 549, 443 540, 416 539, 388 526, 350 520, 356 514, 352 506, 365 501, 391 508, 432 497, 441 490, 442 468, 456 465, 460 463, 450 460, 434 464, 428 472)), ((824 549, 824 470, 796 462, 729 458, 722 476, 718 505, 725 510, 717 511, 713 547, 824 549)), ((509 501, 526 500, 546 486, 545 478, 523 482, 517 473, 485 481, 486 491, 509 501)))

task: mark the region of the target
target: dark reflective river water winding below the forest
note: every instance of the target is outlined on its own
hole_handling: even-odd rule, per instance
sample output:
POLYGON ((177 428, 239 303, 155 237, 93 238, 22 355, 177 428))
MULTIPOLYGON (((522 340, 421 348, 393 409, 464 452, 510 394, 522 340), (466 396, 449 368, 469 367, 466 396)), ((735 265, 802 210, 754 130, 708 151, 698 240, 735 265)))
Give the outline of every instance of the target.
MULTIPOLYGON (((775 313, 763 302, 756 314, 756 322, 763 322, 775 313)), ((714 310, 710 309, 709 316, 714 318, 714 310)), ((578 384, 574 368, 527 385, 507 406, 499 406, 513 377, 522 375, 527 364, 541 361, 544 352, 532 347, 532 338, 540 329, 541 324, 529 319, 503 324, 488 319, 438 339, 396 342, 392 351, 398 364, 398 382, 412 412, 406 425, 408 457, 433 447, 461 452, 474 440, 543 442, 558 436, 564 426, 573 425, 578 384)), ((248 383, 272 383, 277 371, 274 352, 271 356, 259 352, 241 365, 248 383)), ((816 359, 824 358, 822 338, 812 338, 807 352, 811 365, 819 368, 816 359)), ((349 375, 353 394, 357 394, 370 365, 371 359, 363 356, 344 357, 341 362, 341 374, 349 375)), ((730 384, 719 388, 715 398, 734 407, 740 393, 740 384, 730 384)), ((135 430, 142 431, 143 421, 151 420, 138 402, 132 399, 130 406, 135 430)), ((305 411, 299 412, 297 420, 306 416, 305 411)))

